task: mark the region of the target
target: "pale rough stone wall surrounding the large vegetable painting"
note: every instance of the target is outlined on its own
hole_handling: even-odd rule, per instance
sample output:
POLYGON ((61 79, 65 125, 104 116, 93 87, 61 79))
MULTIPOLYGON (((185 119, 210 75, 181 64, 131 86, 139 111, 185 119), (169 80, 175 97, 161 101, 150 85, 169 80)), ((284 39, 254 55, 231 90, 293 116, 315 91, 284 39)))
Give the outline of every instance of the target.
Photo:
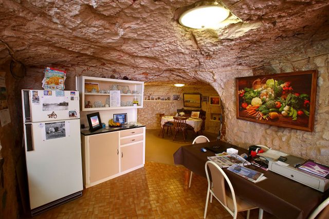
MULTIPOLYGON (((273 60, 273 63, 276 61, 273 60)), ((219 77, 219 76, 218 76, 219 77)), ((329 164, 329 55, 301 61, 259 67, 247 71, 228 72, 213 83, 225 103, 224 141, 240 147, 261 144, 289 154, 329 164), (315 122, 313 132, 282 128, 236 119, 234 77, 318 70, 315 122)))

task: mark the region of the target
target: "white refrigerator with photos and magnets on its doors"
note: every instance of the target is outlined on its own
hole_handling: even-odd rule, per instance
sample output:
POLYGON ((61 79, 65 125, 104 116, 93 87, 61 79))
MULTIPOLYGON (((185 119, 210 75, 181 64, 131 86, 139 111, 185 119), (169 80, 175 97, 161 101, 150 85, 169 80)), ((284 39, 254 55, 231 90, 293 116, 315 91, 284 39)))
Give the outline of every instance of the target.
POLYGON ((32 216, 82 195, 79 92, 22 90, 32 216))

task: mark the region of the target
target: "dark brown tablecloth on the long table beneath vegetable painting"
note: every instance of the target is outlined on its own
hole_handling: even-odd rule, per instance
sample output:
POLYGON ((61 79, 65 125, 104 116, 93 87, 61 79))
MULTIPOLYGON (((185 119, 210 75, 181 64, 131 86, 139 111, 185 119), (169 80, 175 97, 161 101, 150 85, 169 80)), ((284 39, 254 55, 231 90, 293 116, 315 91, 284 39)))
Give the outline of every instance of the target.
MULTIPOLYGON (((207 157, 214 156, 214 153, 209 150, 202 152, 200 148, 214 145, 220 146, 223 151, 235 148, 239 150, 239 154, 248 153, 244 148, 217 141, 182 146, 174 153, 174 162, 206 177, 205 163, 208 161, 207 157)), ((258 169, 257 171, 263 172, 267 177, 259 183, 252 183, 227 169, 224 171, 237 195, 278 218, 307 218, 329 196, 329 190, 323 193, 272 171, 258 169)))

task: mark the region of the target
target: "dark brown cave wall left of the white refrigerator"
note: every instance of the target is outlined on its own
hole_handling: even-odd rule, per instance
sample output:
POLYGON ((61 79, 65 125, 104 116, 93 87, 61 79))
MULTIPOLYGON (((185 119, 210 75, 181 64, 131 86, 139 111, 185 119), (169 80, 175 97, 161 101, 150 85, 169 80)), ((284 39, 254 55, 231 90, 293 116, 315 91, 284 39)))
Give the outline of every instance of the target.
MULTIPOLYGON (((0 174, 0 218, 18 218, 19 204, 17 197, 19 196, 16 168, 22 171, 22 166, 17 165, 20 159, 24 160, 22 147, 22 117, 18 104, 20 103, 20 90, 17 90, 16 79, 12 77, 9 71, 10 61, 0 66, 0 72, 5 73, 7 101, 10 111, 11 123, 0 126, 0 141, 2 150, 1 156, 4 158, 3 173, 0 174)), ((1 172, 1 171, 0 171, 1 172)), ((21 199, 19 199, 21 200, 21 199)))

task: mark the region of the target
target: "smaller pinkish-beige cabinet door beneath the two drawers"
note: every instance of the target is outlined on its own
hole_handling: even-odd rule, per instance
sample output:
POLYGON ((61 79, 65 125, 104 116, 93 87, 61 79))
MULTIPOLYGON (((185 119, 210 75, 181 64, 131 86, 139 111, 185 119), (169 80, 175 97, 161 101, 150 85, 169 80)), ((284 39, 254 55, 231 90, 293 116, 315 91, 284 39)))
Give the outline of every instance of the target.
POLYGON ((143 164, 143 143, 124 146, 121 150, 121 172, 143 164))

